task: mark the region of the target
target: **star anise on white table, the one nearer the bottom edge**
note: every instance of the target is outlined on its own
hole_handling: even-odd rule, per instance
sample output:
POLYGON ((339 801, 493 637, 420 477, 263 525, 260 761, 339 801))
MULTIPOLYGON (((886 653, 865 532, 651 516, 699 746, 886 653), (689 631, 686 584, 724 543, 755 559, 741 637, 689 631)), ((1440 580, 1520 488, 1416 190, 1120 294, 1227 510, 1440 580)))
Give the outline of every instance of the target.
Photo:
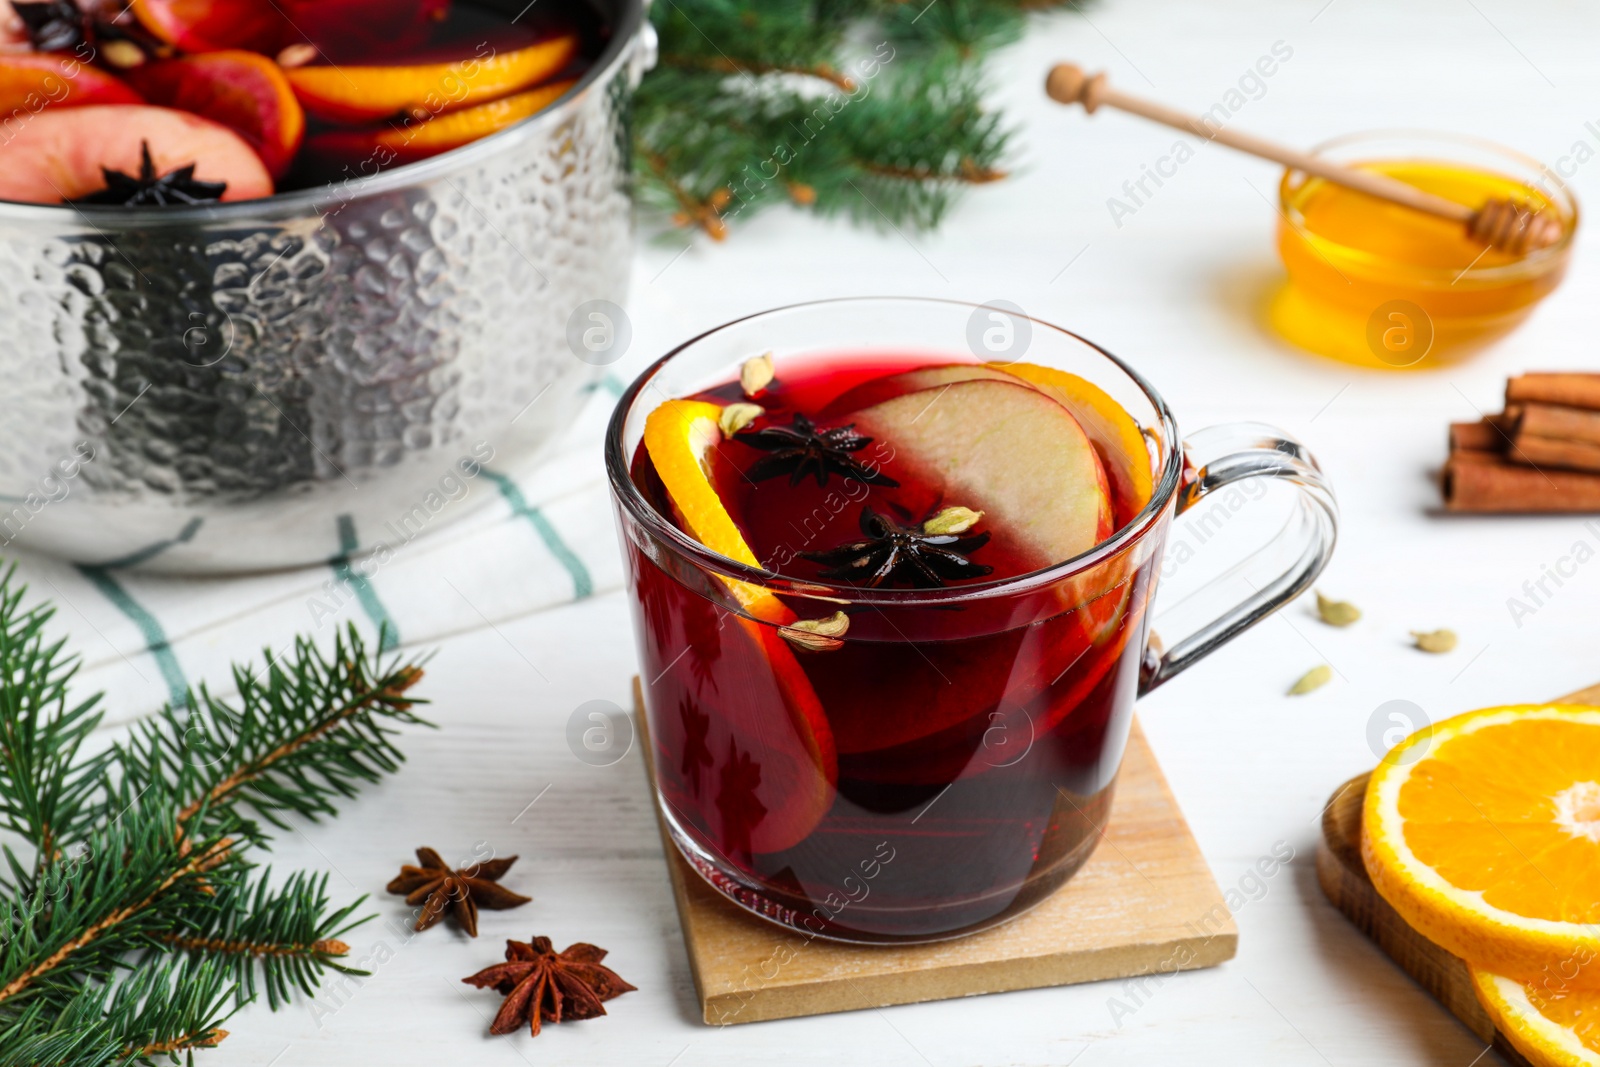
POLYGON ((490 1033, 512 1033, 526 1025, 539 1037, 541 1022, 566 1022, 603 1016, 600 1001, 621 997, 635 987, 600 963, 605 949, 584 942, 557 952, 549 937, 531 942, 507 941, 506 963, 461 979, 478 989, 493 987, 506 1003, 494 1014, 490 1033))

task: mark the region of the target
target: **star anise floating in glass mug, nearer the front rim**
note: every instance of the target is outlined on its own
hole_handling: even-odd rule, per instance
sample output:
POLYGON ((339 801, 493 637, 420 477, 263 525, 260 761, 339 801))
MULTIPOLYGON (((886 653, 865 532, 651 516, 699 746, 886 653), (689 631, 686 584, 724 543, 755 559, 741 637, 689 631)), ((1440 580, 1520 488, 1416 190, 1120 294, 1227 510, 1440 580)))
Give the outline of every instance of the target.
POLYGON ((938 589, 949 581, 982 577, 994 571, 966 558, 989 544, 987 533, 928 533, 928 523, 906 526, 870 507, 861 509, 861 533, 866 541, 800 555, 830 568, 821 577, 869 589, 896 584, 938 589))

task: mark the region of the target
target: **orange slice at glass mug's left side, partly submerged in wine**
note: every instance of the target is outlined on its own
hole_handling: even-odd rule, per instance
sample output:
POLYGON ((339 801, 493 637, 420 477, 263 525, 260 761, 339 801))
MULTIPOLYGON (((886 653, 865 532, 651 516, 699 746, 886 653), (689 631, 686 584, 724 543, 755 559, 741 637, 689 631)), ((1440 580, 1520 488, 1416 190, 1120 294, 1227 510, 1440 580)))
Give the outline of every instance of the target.
MULTIPOLYGON (((667 400, 645 419, 645 451, 685 531, 712 552, 762 566, 710 480, 709 456, 723 440, 718 416, 722 408, 714 403, 667 400)), ((723 757, 714 749, 712 771, 720 771, 723 758, 749 760, 754 752, 760 768, 755 795, 765 814, 749 827, 750 849, 782 851, 805 840, 834 805, 838 749, 811 678, 779 629, 794 622, 795 613, 760 585, 720 574, 718 579, 752 616, 730 613, 736 632, 746 638, 738 653, 744 659, 733 665, 765 661, 771 675, 762 677, 758 669, 746 672, 741 691, 717 704, 718 718, 744 752, 730 745, 723 757), (770 702, 762 697, 771 685, 789 710, 789 723, 774 723, 766 712, 770 702)), ((723 654, 730 654, 728 649, 723 654)))

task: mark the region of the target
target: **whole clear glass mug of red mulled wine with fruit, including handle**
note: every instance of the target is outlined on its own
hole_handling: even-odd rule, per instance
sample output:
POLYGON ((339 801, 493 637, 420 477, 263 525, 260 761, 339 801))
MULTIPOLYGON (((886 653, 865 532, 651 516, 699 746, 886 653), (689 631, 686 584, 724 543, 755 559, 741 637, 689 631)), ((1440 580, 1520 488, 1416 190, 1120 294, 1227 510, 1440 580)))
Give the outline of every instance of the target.
POLYGON ((958 936, 1059 888, 1110 817, 1134 697, 1334 542, 1296 442, 1181 445, 1117 357, 994 306, 720 326, 622 395, 606 464, 669 832, 738 904, 842 941, 958 936), (1243 478, 1299 490, 1288 565, 1155 651, 1173 515, 1243 478))

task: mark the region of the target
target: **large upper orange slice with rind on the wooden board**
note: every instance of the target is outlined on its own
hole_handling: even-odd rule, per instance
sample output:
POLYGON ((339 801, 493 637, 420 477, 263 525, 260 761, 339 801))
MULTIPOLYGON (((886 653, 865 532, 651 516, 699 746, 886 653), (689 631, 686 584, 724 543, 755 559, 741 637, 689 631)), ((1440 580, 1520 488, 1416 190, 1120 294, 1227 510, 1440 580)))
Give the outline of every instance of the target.
MULTIPOLYGON (((1366 787, 1362 857, 1429 939, 1544 981, 1600 957, 1600 707, 1491 707, 1395 745, 1366 787)), ((1570 989, 1600 987, 1600 966, 1570 989)))

